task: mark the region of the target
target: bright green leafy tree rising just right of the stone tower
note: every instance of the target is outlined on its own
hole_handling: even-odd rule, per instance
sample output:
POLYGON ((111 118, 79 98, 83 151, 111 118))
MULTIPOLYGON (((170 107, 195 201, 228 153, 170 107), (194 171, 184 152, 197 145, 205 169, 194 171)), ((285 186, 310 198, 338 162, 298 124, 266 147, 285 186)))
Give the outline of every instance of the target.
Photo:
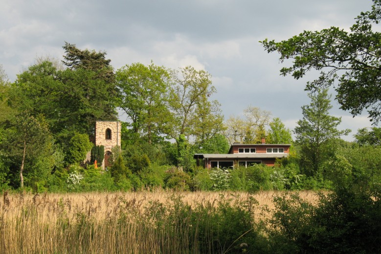
POLYGON ((149 143, 166 133, 172 119, 168 109, 169 79, 167 70, 153 63, 135 63, 116 71, 118 106, 132 121, 134 133, 145 135, 149 143))

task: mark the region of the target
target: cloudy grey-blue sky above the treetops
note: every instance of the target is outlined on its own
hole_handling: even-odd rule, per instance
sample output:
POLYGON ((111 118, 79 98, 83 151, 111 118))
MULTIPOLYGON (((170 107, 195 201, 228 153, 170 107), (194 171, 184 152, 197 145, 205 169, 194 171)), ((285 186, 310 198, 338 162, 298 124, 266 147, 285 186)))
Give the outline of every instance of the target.
MULTIPOLYGON (((171 69, 192 66, 212 76, 227 119, 248 106, 270 111, 290 130, 311 101, 304 91, 314 74, 281 76, 286 66, 259 41, 287 40, 303 30, 338 26, 349 31, 372 0, 0 0, 0 64, 14 81, 39 57, 63 59, 65 42, 106 51, 117 70, 132 63, 171 69)), ((367 114, 339 109, 339 129, 371 127, 367 114)), ((121 120, 125 116, 120 115, 121 120)))

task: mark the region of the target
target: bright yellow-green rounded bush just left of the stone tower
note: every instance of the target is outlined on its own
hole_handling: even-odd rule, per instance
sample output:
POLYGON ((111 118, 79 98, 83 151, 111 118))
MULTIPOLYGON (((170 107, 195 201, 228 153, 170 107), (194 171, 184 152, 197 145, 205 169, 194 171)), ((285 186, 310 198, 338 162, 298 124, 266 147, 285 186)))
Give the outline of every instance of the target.
POLYGON ((89 141, 89 136, 87 134, 74 133, 69 142, 67 162, 71 164, 80 164, 81 162, 84 162, 91 147, 92 143, 89 141))

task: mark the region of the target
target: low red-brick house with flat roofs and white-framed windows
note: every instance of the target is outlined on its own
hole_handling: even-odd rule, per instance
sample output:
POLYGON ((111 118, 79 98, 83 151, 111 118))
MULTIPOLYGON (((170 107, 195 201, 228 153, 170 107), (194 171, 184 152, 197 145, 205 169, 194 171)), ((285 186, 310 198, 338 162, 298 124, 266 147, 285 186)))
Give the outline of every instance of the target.
POLYGON ((291 144, 267 144, 262 138, 261 144, 233 143, 228 154, 195 154, 197 165, 205 168, 233 168, 235 166, 248 167, 263 163, 273 166, 275 159, 289 156, 291 144))

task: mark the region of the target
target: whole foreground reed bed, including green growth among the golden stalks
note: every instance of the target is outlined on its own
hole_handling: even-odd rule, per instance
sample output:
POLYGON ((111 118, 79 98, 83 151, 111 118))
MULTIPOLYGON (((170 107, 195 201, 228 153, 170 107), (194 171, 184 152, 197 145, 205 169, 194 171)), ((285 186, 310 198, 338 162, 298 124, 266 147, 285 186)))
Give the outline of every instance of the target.
POLYGON ((282 193, 4 192, 0 253, 242 253, 265 238, 258 222, 282 193))

